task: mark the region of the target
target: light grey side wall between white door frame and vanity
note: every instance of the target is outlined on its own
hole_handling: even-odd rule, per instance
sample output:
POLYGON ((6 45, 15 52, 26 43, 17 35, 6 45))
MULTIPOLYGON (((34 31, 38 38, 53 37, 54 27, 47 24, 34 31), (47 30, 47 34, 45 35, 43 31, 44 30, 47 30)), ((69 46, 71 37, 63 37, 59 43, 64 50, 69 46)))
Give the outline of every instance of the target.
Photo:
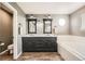
MULTIPOLYGON (((17 10, 17 25, 18 23, 22 24, 20 35, 25 35, 26 34, 26 15, 15 2, 10 2, 10 4, 17 10)), ((17 35, 17 55, 19 55, 19 53, 22 53, 22 40, 20 40, 19 35, 17 35)))

